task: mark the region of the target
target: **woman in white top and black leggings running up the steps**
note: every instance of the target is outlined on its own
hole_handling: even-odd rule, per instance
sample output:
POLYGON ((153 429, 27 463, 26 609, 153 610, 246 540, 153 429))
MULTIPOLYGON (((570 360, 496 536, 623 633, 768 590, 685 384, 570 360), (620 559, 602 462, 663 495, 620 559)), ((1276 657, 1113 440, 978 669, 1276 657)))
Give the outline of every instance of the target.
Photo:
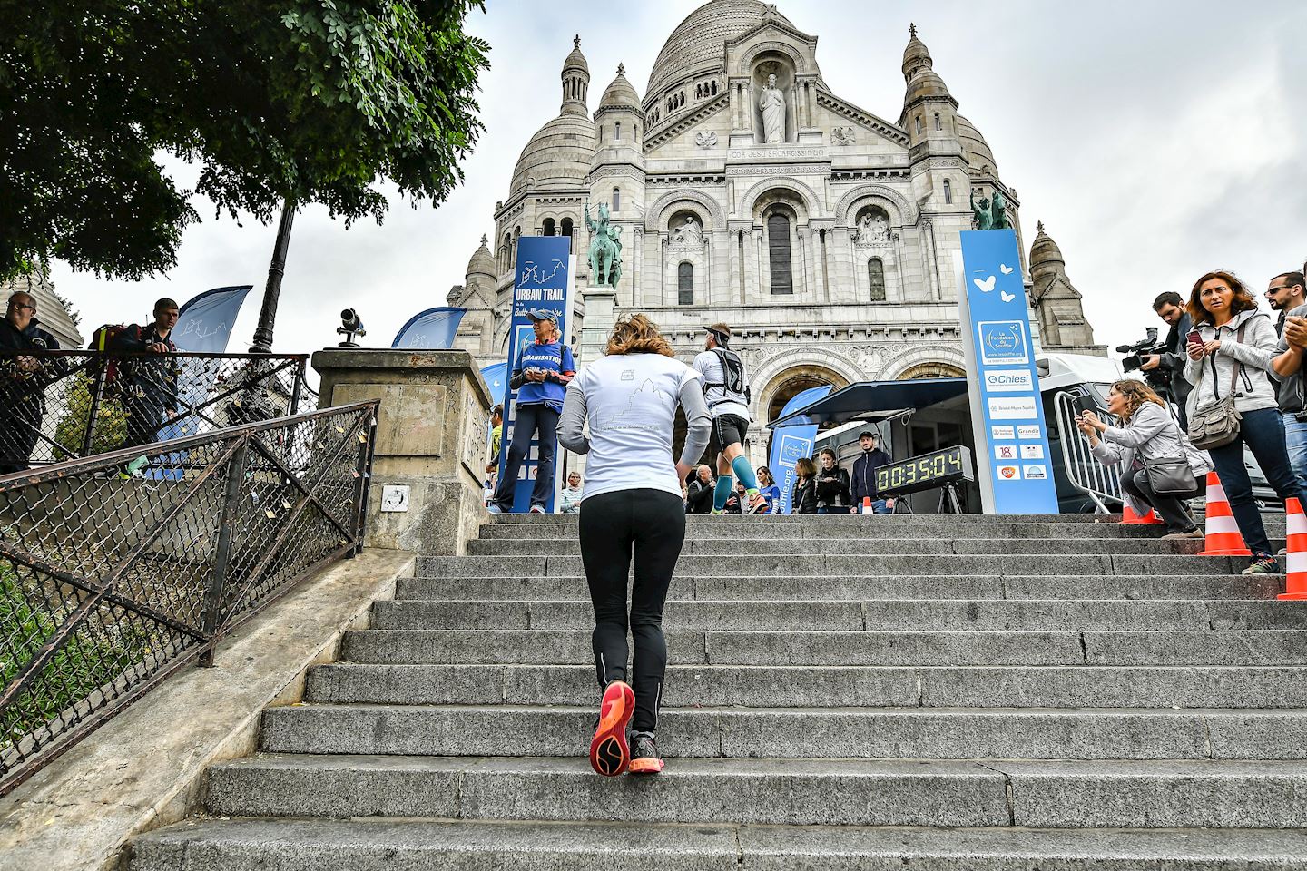
POLYGON ((663 770, 654 743, 667 674, 663 605, 685 542, 681 482, 708 447, 711 427, 703 377, 676 359, 644 315, 618 320, 606 356, 589 363, 567 387, 558 440, 572 453, 588 454, 579 525, 603 692, 589 744, 589 763, 600 774, 663 770), (677 406, 685 410, 689 430, 681 458, 673 462, 677 406), (583 432, 587 422, 589 437, 583 432), (627 626, 635 641, 629 683, 627 626))

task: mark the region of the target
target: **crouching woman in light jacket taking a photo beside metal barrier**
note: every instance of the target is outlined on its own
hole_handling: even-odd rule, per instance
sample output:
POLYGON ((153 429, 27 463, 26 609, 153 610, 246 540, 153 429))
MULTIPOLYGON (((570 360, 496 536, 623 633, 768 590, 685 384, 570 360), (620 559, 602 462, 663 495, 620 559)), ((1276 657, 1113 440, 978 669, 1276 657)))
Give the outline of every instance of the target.
POLYGON ((1107 410, 1121 426, 1108 426, 1093 411, 1081 414, 1076 423, 1089 437, 1094 457, 1104 466, 1120 469, 1131 508, 1141 516, 1155 508, 1170 530, 1162 538, 1202 538, 1184 501, 1202 494, 1202 477, 1212 470, 1212 462, 1189 444, 1166 402, 1144 381, 1127 379, 1114 384, 1107 392, 1107 410), (1187 492, 1157 492, 1146 461, 1180 458, 1193 471, 1193 487, 1187 492))

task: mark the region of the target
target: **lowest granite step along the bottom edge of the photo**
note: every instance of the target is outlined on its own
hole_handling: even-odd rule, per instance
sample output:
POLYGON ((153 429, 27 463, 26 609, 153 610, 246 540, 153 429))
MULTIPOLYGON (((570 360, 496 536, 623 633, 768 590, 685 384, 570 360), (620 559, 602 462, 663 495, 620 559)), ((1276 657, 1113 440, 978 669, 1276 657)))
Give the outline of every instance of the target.
POLYGON ((132 871, 1303 871, 1290 829, 1026 829, 192 820, 136 838, 132 871))

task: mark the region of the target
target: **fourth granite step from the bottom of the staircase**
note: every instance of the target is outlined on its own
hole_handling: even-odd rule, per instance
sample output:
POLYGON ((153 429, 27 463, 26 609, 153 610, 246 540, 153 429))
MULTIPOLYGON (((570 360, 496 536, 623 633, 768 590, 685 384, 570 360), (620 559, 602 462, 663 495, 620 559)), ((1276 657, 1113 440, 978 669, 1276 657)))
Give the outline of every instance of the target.
MULTIPOLYGON (((310 670, 335 704, 593 705, 592 665, 361 665, 310 670)), ((694 666, 663 704, 746 708, 1304 708, 1303 666, 694 666)))

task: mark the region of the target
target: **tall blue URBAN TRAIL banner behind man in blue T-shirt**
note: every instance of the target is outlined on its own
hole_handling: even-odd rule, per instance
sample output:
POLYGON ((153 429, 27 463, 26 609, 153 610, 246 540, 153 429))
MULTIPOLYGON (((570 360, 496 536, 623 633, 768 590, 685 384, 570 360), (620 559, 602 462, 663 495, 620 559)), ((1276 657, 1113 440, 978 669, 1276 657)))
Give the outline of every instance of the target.
MULTIPOLYGON (((567 343, 569 315, 571 313, 571 239, 569 236, 521 236, 518 239, 518 269, 512 281, 512 323, 508 326, 508 372, 516 367, 518 358, 536 333, 527 312, 546 311, 558 319, 558 341, 567 343)), ((514 400, 518 392, 505 379, 503 388, 503 436, 499 439, 499 474, 503 475, 508 460, 508 445, 512 443, 512 424, 516 419, 514 400)), ((557 447, 555 447, 557 451, 557 447)), ((558 467, 557 453, 554 469, 558 467)), ((531 451, 521 461, 518 483, 514 488, 512 511, 525 512, 531 508, 531 490, 536 482, 536 467, 540 460, 540 444, 531 440, 531 451)), ((545 511, 553 512, 558 494, 557 474, 554 487, 549 494, 545 511)))

